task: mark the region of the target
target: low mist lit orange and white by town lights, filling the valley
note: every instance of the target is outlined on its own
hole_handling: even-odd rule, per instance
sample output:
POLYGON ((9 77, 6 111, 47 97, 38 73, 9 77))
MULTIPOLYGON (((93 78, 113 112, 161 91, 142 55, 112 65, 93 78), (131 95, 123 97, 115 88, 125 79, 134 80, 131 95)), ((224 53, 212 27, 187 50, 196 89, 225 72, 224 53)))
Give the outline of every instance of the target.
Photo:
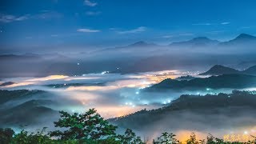
MULTIPOLYGON (((53 122, 58 120, 58 110, 82 113, 90 108, 96 108, 102 117, 114 118, 139 110, 153 110, 168 106, 182 94, 203 95, 232 91, 232 89, 143 91, 146 87, 161 82, 163 79, 178 78, 187 74, 196 76, 198 72, 166 70, 137 74, 109 74, 107 71, 103 71, 101 74, 84 74, 73 77, 52 75, 43 78, 3 78, 2 82, 14 83, 2 86, 1 90, 29 91, 0 104, 0 113, 4 116, 0 118, 0 124, 13 127, 14 130, 21 130, 20 125, 25 126, 28 130, 36 130, 43 126, 53 130, 53 122), (40 91, 31 93, 30 90, 40 91), (40 113, 38 113, 38 107, 40 107, 40 113), (14 110, 17 117, 12 115, 16 114, 14 110), (24 111, 29 114, 20 116, 19 114, 23 114, 24 111), (10 112, 10 114, 6 114, 6 112, 10 112)), ((138 129, 136 126, 126 124, 129 127, 120 126, 120 130, 132 128, 141 136, 150 138, 154 138, 162 131, 172 131, 182 135, 183 133, 190 134, 189 131, 195 131, 201 135, 212 133, 219 136, 230 132, 228 130, 244 130, 244 127, 251 127, 255 124, 254 110, 250 108, 230 109, 235 116, 229 115, 230 112, 226 113, 225 109, 217 111, 218 113, 215 113, 216 110, 210 112, 184 110, 175 114, 166 114, 165 117, 159 118, 156 123, 145 128, 138 129), (238 118, 237 115, 239 115, 238 118), (219 130, 222 132, 217 133, 216 131, 219 130)))

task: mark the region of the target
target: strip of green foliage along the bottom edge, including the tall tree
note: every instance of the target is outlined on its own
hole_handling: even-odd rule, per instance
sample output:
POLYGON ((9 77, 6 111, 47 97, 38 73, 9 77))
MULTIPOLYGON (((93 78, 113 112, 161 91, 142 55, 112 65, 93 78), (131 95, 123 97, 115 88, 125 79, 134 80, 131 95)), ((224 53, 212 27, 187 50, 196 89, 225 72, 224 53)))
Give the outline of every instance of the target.
MULTIPOLYGON (((65 130, 54 130, 46 133, 46 127, 35 133, 22 130, 14 134, 10 128, 0 129, 0 144, 144 144, 142 139, 127 129, 125 134, 116 134, 117 126, 111 125, 100 116, 96 110, 90 109, 84 114, 68 114, 60 111, 61 118, 54 122, 56 127, 65 130)), ((153 140, 153 144, 181 144, 175 138, 176 135, 168 132, 153 140)), ((198 140, 192 133, 186 140, 187 144, 256 144, 256 138, 252 136, 248 142, 226 142, 219 138, 214 138, 209 134, 205 139, 198 140)))

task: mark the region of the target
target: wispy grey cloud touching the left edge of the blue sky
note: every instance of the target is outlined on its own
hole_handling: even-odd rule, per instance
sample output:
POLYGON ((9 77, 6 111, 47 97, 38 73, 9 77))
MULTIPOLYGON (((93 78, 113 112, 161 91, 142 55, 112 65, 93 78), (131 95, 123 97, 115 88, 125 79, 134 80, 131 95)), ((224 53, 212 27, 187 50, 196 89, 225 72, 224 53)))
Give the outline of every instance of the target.
POLYGON ((16 22, 24 21, 30 17, 30 14, 25 14, 22 16, 15 16, 10 14, 0 14, 0 22, 16 22))

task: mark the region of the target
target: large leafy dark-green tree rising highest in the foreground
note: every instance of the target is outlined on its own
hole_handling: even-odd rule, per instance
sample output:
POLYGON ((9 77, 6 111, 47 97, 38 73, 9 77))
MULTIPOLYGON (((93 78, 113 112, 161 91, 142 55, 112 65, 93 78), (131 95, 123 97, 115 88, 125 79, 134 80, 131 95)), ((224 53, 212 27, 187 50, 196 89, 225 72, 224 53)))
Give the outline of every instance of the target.
POLYGON ((111 125, 104 120, 95 109, 90 109, 84 114, 68 114, 60 111, 61 118, 54 122, 55 127, 61 127, 65 130, 55 130, 50 132, 51 137, 61 139, 106 139, 115 136, 117 126, 111 125))

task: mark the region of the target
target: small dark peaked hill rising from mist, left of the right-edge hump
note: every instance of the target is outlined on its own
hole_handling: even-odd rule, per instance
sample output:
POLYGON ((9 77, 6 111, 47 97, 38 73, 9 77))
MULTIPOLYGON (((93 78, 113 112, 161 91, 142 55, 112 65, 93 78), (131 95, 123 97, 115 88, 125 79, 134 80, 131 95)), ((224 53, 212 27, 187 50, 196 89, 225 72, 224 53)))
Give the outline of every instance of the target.
POLYGON ((222 65, 215 65, 210 68, 210 70, 206 71, 205 73, 199 75, 222 75, 222 74, 239 74, 240 71, 234 70, 230 67, 222 66, 222 65))

